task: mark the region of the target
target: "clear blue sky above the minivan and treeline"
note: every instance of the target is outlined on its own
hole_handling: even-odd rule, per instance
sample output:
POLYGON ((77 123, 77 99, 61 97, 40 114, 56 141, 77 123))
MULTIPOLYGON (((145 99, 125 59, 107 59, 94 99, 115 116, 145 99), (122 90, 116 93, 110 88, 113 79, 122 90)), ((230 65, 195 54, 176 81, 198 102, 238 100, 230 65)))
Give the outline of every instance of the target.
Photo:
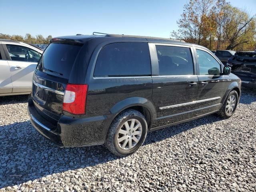
MULTIPOLYGON (((0 0, 0 33, 65 36, 126 34, 170 38, 188 0, 0 0)), ((230 0, 256 13, 256 0, 230 0)))

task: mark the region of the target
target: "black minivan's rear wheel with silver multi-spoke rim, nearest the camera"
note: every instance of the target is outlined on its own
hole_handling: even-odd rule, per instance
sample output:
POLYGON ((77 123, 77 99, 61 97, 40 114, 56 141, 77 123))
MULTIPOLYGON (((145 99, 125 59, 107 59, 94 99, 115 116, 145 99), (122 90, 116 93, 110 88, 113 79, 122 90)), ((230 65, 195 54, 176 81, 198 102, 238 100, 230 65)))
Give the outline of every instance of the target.
POLYGON ((145 117, 136 110, 125 110, 112 122, 106 147, 117 156, 130 155, 145 141, 148 125, 145 117))

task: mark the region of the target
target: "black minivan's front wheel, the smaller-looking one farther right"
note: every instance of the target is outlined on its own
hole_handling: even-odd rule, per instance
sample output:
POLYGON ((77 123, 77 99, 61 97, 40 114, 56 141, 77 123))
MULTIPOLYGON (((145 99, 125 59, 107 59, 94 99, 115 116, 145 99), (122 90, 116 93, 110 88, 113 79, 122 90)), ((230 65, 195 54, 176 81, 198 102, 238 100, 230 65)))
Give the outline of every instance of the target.
POLYGON ((237 104, 238 93, 236 91, 231 91, 220 109, 220 112, 218 112, 218 115, 225 119, 230 118, 236 111, 237 104))

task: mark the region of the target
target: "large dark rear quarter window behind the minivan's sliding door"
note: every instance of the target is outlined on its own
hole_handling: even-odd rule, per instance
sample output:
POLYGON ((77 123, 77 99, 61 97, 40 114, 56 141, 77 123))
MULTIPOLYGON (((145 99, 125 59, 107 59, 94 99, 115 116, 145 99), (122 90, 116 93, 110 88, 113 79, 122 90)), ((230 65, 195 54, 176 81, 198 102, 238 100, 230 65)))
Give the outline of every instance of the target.
POLYGON ((98 56, 94 76, 151 75, 147 43, 113 43, 105 46, 98 56))

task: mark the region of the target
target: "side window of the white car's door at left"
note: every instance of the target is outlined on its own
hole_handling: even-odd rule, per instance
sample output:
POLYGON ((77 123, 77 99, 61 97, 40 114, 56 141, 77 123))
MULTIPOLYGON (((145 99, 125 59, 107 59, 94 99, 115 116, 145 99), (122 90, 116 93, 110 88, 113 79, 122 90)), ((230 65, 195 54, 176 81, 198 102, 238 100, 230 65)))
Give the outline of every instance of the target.
POLYGON ((38 62, 41 54, 28 47, 6 44, 12 61, 38 62))

